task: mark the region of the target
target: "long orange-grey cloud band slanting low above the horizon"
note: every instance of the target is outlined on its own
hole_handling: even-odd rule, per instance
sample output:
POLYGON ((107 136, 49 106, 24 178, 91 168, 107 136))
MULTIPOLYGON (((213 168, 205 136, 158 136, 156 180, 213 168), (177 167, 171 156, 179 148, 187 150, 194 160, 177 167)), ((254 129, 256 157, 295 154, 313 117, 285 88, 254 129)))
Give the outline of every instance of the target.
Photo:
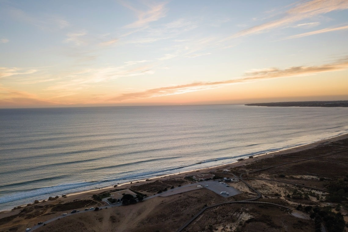
POLYGON ((321 72, 333 72, 348 69, 348 59, 342 61, 325 64, 320 66, 297 66, 288 69, 267 68, 260 70, 251 70, 245 73, 244 77, 236 79, 215 81, 215 82, 193 82, 184 85, 167 86, 155 89, 148 89, 141 92, 125 93, 117 97, 110 98, 108 101, 121 102, 130 99, 152 98, 166 95, 182 94, 192 91, 207 90, 219 88, 225 85, 232 85, 236 83, 243 83, 249 81, 267 80, 271 78, 284 78, 294 76, 313 75, 321 72))

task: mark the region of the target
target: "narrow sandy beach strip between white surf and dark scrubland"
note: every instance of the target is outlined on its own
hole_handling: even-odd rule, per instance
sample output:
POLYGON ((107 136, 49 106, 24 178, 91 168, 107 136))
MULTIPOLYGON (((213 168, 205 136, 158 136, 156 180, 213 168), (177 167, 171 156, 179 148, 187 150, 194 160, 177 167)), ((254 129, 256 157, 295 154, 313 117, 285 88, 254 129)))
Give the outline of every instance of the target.
MULTIPOLYGON (((282 155, 282 154, 303 151, 303 150, 307 150, 307 149, 311 149, 313 147, 316 147, 320 144, 327 144, 327 143, 330 143, 331 141, 338 141, 338 140, 345 139, 345 138, 348 138, 348 133, 334 136, 331 138, 321 139, 319 141, 309 143, 309 144, 304 144, 304 145, 294 146, 294 147, 290 147, 290 148, 286 148, 286 149, 281 149, 281 150, 266 153, 266 154, 253 155, 254 158, 252 158, 252 159, 243 158, 244 159, 243 161, 235 161, 232 163, 226 163, 226 164, 212 166, 212 167, 194 169, 194 170, 190 170, 190 171, 184 171, 182 173, 179 172, 179 173, 158 175, 158 176, 147 178, 149 181, 146 181, 146 179, 139 179, 139 180, 135 180, 132 182, 119 183, 119 184, 117 184, 116 187, 114 187, 114 185, 109 185, 109 186, 101 187, 100 189, 90 189, 90 190, 85 190, 85 191, 71 192, 71 193, 67 193, 65 195, 66 195, 66 198, 69 198, 67 200, 81 199, 81 198, 91 197, 93 194, 98 194, 98 193, 101 193, 101 192, 104 192, 107 190, 116 189, 120 186, 125 187, 125 188, 129 188, 130 186, 136 186, 136 185, 141 185, 144 183, 155 182, 156 180, 161 179, 161 178, 169 179, 169 178, 172 178, 172 176, 185 177, 185 176, 189 176, 189 175, 193 175, 193 174, 205 173, 205 172, 209 172, 209 171, 216 171, 217 169, 221 169, 221 168, 227 167, 227 166, 228 166, 228 168, 244 166, 244 165, 251 163, 251 162, 254 162, 256 160, 261 160, 261 159, 273 157, 275 155, 282 155)), ((50 202, 50 201, 48 201, 48 199, 41 199, 41 200, 39 200, 39 203, 43 203, 42 202, 43 200, 45 200, 48 203, 50 202)), ((33 202, 27 202, 27 203, 24 203, 24 204, 18 205, 18 206, 25 207, 28 204, 33 204, 33 202)), ((15 207, 18 207, 18 206, 15 206, 15 207)), ((12 211, 14 211, 14 210, 13 209, 11 209, 11 210, 4 209, 4 210, 0 210, 0 214, 6 214, 6 213, 9 213, 12 211)))

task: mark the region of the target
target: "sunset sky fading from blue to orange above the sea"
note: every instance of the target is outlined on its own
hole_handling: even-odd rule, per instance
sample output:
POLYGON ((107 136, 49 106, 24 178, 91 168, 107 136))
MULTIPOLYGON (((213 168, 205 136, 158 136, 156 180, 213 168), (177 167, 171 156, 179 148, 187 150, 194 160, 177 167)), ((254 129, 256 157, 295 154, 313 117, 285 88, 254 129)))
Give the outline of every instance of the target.
POLYGON ((0 108, 348 100, 347 0, 0 0, 0 108))

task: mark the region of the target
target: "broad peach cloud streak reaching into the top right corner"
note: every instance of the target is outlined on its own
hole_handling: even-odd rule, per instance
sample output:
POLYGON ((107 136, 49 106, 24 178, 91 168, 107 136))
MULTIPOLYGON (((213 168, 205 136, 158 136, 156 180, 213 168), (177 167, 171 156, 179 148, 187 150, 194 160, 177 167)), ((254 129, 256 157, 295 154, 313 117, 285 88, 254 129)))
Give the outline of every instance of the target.
POLYGON ((262 33, 264 31, 298 22, 306 18, 343 9, 348 9, 347 0, 312 0, 291 8, 286 12, 285 16, 280 19, 242 30, 232 35, 228 39, 262 33))

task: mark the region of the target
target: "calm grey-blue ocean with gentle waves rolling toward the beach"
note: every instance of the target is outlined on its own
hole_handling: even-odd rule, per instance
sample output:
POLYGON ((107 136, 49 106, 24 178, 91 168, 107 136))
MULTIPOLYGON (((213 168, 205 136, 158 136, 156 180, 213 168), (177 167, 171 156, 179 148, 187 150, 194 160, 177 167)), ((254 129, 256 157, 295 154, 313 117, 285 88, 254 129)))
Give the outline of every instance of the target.
POLYGON ((0 109, 0 210, 348 133, 348 108, 0 109))

